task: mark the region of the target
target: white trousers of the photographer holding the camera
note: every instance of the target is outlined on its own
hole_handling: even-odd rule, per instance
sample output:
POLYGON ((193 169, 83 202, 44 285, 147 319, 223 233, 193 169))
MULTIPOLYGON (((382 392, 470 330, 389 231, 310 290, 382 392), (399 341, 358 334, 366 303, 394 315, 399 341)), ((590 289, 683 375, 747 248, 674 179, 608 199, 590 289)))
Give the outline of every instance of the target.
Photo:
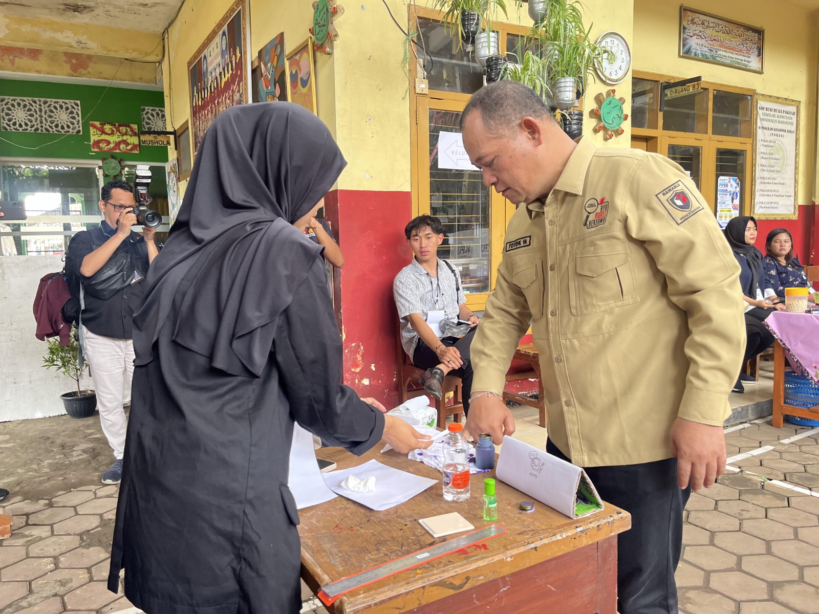
POLYGON ((131 398, 133 341, 95 335, 86 327, 83 327, 83 334, 85 359, 91 366, 94 390, 97 391, 102 432, 114 450, 114 458, 122 458, 128 430, 122 405, 131 398))

